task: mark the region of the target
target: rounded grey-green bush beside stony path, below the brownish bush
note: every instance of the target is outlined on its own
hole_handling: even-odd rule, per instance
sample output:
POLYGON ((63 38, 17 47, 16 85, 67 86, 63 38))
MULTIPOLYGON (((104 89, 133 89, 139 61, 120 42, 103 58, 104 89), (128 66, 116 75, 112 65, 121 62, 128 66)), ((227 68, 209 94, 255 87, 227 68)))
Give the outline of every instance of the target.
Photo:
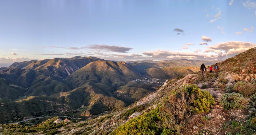
POLYGON ((226 109, 244 109, 248 104, 248 99, 239 93, 224 93, 222 97, 220 97, 219 103, 226 109))

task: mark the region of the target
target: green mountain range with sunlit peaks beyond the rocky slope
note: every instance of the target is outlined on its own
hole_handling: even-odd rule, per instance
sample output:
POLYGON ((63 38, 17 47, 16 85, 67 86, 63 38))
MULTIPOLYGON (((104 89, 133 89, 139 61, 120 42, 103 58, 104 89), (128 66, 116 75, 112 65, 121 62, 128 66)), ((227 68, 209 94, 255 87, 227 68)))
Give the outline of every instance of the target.
POLYGON ((80 56, 15 62, 0 68, 0 122, 57 114, 91 117, 120 110, 154 92, 165 79, 197 72, 202 62, 214 63, 116 62, 80 56))

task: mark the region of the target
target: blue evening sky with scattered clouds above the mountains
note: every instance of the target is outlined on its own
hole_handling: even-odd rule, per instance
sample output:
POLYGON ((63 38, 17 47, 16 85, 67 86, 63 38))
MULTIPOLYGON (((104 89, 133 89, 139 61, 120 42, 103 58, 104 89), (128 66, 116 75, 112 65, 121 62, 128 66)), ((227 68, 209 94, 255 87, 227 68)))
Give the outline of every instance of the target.
POLYGON ((0 1, 0 67, 46 58, 224 60, 256 47, 255 0, 0 1))

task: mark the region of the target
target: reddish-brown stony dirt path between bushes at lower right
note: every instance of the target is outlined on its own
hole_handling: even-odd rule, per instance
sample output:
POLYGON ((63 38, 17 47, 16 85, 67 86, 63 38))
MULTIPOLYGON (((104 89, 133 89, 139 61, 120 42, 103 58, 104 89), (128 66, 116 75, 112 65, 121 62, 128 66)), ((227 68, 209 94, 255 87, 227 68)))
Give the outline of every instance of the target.
MULTIPOLYGON (((215 81, 217 82, 218 79, 215 81)), ((251 135, 251 130, 246 128, 248 112, 246 110, 230 109, 226 110, 218 104, 218 98, 224 91, 215 91, 213 88, 201 89, 208 90, 215 94, 215 105, 209 113, 199 113, 192 115, 186 123, 183 135, 226 135, 228 133, 242 133, 251 135)))

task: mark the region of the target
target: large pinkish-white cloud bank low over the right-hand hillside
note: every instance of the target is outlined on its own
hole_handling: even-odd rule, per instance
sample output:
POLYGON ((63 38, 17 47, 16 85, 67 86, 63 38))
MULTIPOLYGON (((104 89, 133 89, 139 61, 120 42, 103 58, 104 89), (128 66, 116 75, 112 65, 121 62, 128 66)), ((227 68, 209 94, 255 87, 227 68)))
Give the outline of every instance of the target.
POLYGON ((192 59, 197 58, 200 60, 224 60, 226 58, 233 57, 239 53, 242 53, 250 48, 256 47, 256 44, 251 42, 239 42, 239 41, 230 41, 230 42, 220 42, 213 46, 207 46, 207 49, 202 53, 201 50, 195 50, 194 52, 173 52, 173 51, 164 51, 156 50, 150 52, 144 52, 146 56, 151 56, 158 60, 177 59, 177 58, 186 58, 192 59))

